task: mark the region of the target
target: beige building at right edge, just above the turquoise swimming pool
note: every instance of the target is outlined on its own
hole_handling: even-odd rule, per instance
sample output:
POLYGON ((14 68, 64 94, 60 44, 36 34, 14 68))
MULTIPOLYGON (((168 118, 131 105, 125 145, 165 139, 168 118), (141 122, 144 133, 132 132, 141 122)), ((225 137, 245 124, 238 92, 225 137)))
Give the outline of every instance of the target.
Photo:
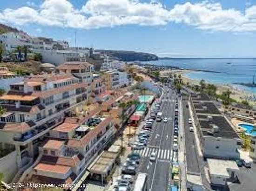
POLYGON ((231 103, 230 105, 222 105, 222 111, 227 112, 234 117, 241 119, 243 121, 248 121, 251 123, 256 123, 256 108, 244 105, 241 103, 231 103))

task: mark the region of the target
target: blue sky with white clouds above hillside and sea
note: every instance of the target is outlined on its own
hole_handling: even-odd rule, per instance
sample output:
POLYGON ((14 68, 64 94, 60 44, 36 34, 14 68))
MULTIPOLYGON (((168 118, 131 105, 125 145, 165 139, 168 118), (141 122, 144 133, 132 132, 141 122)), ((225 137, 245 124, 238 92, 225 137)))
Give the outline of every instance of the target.
POLYGON ((256 57, 256 0, 0 0, 0 23, 78 47, 256 57))

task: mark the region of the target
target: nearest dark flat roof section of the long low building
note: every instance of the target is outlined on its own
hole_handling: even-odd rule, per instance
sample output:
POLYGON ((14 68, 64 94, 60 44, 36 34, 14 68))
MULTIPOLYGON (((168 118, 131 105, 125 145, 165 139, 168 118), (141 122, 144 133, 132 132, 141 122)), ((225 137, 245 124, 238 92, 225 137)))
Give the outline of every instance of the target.
POLYGON ((209 119, 209 121, 199 119, 199 124, 204 136, 223 137, 229 139, 239 138, 233 127, 231 127, 229 122, 222 116, 212 116, 212 119, 209 119), (213 133, 214 126, 218 127, 218 132, 213 133))

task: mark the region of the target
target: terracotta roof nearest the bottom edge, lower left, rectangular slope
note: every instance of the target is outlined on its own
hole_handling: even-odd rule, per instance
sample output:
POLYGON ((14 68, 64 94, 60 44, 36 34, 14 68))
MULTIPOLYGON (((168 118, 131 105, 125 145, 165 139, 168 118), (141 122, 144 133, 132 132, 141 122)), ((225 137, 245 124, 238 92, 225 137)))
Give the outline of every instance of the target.
POLYGON ((37 171, 46 171, 46 172, 54 172, 58 174, 66 174, 71 168, 68 166, 61 166, 61 165, 50 165, 39 163, 37 166, 34 167, 34 170, 37 171))

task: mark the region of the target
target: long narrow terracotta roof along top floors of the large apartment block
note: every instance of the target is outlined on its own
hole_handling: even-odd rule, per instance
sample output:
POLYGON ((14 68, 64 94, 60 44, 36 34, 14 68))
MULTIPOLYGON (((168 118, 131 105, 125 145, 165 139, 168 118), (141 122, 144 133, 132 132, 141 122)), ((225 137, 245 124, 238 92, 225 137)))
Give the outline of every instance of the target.
POLYGON ((60 88, 54 88, 54 89, 50 89, 47 91, 35 91, 32 93, 32 96, 38 96, 38 97, 49 97, 49 96, 53 96, 55 94, 59 94, 61 92, 64 91, 69 91, 72 89, 77 89, 77 88, 81 88, 81 87, 86 87, 88 86, 88 83, 73 83, 71 85, 68 86, 64 86, 64 87, 60 87, 60 88))

